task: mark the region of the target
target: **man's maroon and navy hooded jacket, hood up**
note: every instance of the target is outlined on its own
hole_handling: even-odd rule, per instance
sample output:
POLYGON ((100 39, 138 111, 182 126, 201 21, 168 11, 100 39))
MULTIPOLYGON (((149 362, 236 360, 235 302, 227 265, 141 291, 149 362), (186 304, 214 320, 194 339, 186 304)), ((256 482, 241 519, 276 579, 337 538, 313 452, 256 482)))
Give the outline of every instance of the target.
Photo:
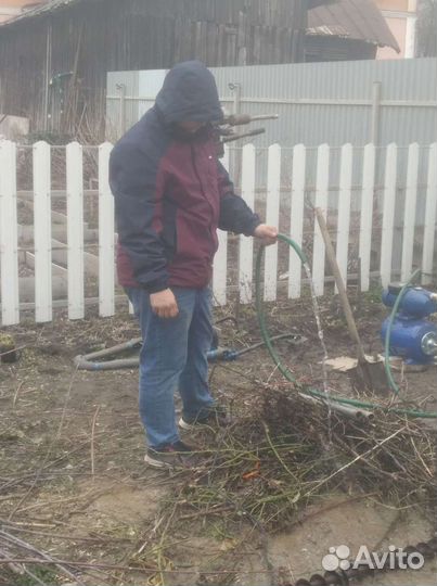
POLYGON ((150 293, 201 289, 211 277, 217 228, 252 235, 259 218, 233 193, 217 158, 211 122, 222 111, 213 74, 200 62, 176 65, 155 105, 114 146, 110 182, 124 286, 150 293), (205 123, 194 135, 178 123, 205 123))

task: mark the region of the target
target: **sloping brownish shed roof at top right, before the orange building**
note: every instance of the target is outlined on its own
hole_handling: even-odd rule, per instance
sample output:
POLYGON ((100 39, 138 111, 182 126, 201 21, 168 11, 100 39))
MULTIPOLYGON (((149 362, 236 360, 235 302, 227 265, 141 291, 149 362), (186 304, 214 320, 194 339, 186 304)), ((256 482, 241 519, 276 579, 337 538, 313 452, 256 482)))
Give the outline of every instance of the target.
POLYGON ((400 52, 373 0, 337 0, 308 11, 308 35, 363 40, 400 52))

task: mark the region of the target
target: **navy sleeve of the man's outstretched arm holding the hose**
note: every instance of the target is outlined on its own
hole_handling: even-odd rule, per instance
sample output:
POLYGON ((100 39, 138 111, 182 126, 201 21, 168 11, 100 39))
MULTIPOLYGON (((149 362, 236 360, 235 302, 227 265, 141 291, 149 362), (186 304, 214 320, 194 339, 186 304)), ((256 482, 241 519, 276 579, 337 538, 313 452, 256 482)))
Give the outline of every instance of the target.
POLYGON ((259 216, 248 207, 243 198, 235 195, 233 183, 223 165, 218 162, 220 218, 219 228, 236 234, 253 235, 261 224, 259 216))

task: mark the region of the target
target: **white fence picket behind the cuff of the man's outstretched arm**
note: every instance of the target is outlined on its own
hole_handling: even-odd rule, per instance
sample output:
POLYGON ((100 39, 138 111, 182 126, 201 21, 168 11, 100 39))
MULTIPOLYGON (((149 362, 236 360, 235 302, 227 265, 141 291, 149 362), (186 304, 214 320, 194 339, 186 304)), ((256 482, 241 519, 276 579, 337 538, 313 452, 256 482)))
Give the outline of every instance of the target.
MULTIPOLYGON (((255 206, 255 146, 243 146, 242 198, 254 209, 255 206)), ((254 272, 254 240, 240 237, 239 289, 241 303, 252 302, 254 272)))

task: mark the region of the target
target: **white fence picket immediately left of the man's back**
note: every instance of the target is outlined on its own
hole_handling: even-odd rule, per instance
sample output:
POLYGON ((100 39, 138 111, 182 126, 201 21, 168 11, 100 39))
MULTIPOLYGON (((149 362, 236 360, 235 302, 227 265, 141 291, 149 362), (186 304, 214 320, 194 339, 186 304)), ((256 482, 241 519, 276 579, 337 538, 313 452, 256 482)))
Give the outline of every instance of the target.
POLYGON ((113 145, 108 142, 99 148, 99 314, 113 316, 115 263, 114 263, 114 198, 110 188, 110 154, 113 145))

